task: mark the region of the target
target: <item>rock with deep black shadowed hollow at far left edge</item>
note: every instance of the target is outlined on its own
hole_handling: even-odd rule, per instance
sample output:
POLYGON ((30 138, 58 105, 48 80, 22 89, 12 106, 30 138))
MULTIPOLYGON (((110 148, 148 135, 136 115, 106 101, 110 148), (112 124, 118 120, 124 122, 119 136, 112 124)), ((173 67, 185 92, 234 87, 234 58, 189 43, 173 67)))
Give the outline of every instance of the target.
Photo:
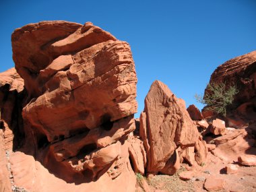
POLYGON ((24 96, 24 81, 14 68, 0 73, 0 129, 3 129, 5 150, 15 150, 22 144, 24 96))

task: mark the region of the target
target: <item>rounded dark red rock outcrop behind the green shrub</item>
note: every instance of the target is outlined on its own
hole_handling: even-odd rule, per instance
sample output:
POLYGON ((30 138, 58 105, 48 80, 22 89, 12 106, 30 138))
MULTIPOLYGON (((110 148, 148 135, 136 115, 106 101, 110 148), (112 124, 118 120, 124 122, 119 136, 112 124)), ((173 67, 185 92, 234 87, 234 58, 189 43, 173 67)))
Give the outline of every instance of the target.
MULTIPOLYGON (((256 51, 235 57, 217 67, 212 73, 210 83, 224 82, 238 88, 238 94, 234 97, 234 103, 228 108, 227 115, 233 119, 243 119, 246 122, 256 119, 256 51), (243 106, 243 113, 239 106, 243 106)), ((205 89, 205 92, 208 92, 205 89)), ((207 110, 207 107, 203 110, 207 110)), ((203 115, 205 117, 205 115, 203 115)))

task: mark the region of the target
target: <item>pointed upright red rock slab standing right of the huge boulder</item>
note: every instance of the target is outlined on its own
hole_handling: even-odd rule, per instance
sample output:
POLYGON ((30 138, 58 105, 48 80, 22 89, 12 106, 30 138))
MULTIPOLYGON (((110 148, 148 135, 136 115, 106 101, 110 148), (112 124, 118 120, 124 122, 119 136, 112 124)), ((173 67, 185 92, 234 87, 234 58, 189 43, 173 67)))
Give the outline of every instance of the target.
POLYGON ((179 155, 189 147, 195 147, 198 162, 205 158, 204 150, 207 153, 207 148, 199 140, 197 127, 185 105, 162 82, 152 84, 145 99, 139 128, 148 156, 148 173, 174 174, 179 169, 179 155))

